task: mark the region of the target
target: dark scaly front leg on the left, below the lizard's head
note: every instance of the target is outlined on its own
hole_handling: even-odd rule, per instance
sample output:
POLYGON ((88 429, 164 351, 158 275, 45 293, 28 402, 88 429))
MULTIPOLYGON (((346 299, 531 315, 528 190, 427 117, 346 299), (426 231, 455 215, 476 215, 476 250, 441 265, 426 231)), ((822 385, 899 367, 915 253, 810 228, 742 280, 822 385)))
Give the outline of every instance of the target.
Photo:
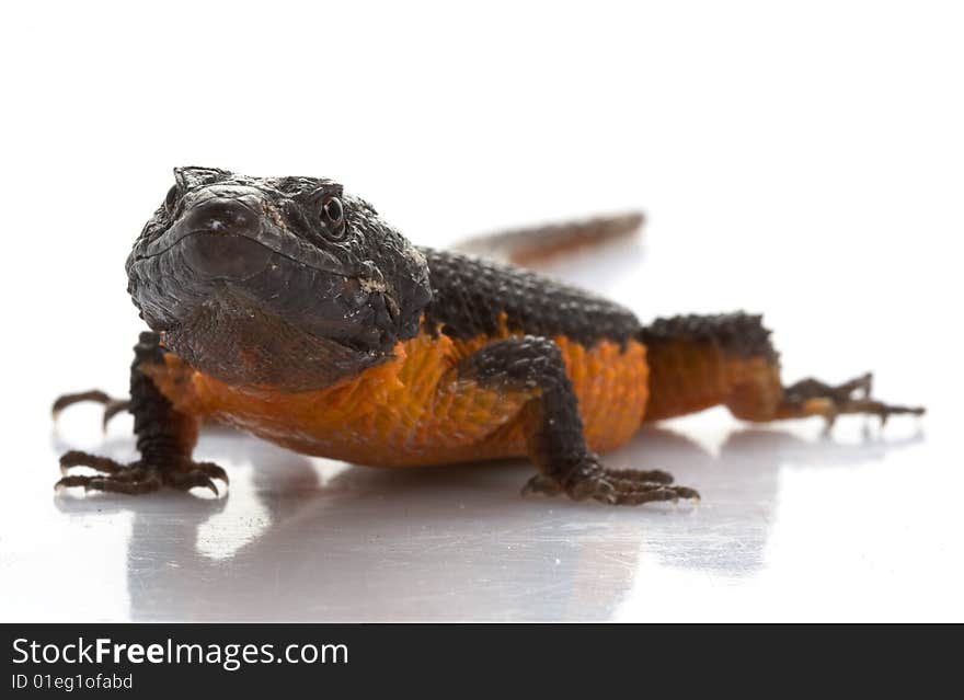
POLYGON ((130 367, 130 399, 128 402, 108 400, 102 392, 85 392, 61 397, 54 404, 55 415, 71 403, 93 400, 107 406, 105 422, 112 408, 124 405, 134 414, 134 433, 137 435, 137 449, 140 459, 122 464, 106 457, 71 450, 60 457, 60 471, 64 478, 57 489, 83 486, 87 491, 110 491, 115 493, 141 494, 171 486, 187 491, 195 486, 210 489, 215 495, 218 487, 214 480, 228 483, 223 469, 211 462, 195 462, 191 459, 197 443, 198 418, 174 409, 146 374, 148 367, 159 370, 164 367, 164 351, 157 333, 140 334, 134 347, 134 364, 130 367), (87 467, 100 472, 99 475, 71 474, 74 467, 87 467))

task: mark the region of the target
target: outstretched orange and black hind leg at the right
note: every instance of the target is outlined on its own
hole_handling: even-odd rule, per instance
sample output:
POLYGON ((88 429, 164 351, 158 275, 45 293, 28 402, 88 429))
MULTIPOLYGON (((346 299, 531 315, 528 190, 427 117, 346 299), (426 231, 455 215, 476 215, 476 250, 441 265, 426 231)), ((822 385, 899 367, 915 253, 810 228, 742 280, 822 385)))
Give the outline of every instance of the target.
POLYGON ((646 421, 727 406, 754 422, 818 415, 828 426, 842 413, 877 415, 923 413, 871 398, 872 376, 841 385, 804 379, 783 386, 770 332, 759 315, 727 313, 659 319, 643 329, 650 365, 646 421))

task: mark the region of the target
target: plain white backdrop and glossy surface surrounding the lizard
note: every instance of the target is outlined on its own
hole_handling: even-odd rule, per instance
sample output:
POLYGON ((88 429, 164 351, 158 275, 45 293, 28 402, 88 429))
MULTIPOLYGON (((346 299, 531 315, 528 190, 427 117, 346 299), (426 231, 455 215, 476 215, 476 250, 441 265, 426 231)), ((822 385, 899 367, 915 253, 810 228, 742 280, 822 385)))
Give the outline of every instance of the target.
POLYGON ((8 3, 0 619, 961 620, 964 23, 953 2, 8 3), (642 207, 554 274, 643 319, 764 311, 785 377, 930 409, 611 455, 698 507, 524 501, 519 463, 387 472, 231 434, 232 477, 55 498, 134 456, 124 260, 180 164, 336 177, 421 243, 642 207))

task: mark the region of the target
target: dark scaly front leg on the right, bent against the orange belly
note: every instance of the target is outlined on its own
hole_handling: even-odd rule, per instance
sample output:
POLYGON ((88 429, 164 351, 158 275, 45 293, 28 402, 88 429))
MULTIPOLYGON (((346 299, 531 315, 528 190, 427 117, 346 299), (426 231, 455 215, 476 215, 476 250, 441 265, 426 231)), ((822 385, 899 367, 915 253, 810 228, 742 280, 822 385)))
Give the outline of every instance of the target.
POLYGON ((586 445, 577 398, 565 372, 559 346, 527 335, 486 345, 462 360, 459 378, 486 388, 521 391, 530 398, 519 420, 526 448, 539 473, 524 493, 565 492, 582 501, 616 505, 699 498, 686 486, 670 485, 663 471, 606 469, 586 445))

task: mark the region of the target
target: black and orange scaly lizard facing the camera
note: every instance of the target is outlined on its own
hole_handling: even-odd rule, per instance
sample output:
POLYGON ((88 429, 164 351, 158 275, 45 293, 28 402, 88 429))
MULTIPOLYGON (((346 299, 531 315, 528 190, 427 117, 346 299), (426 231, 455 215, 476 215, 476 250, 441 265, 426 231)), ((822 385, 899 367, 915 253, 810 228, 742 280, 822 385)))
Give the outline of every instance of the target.
MULTIPOLYGON (((641 217, 490 239, 515 262, 618 236, 641 217)), ((478 243, 478 241, 477 241, 478 243)), ((215 420, 302 454, 375 467, 528 457, 523 492, 635 505, 698 500, 658 469, 599 452, 645 423, 725 405, 741 420, 921 414, 871 398, 871 375, 785 386, 761 317, 661 318, 512 262, 416 246, 320 177, 177 168, 137 238, 128 292, 140 334, 126 400, 140 458, 70 450, 58 490, 144 494, 228 483, 192 457, 215 420), (74 468, 94 470, 77 473, 74 468)))

